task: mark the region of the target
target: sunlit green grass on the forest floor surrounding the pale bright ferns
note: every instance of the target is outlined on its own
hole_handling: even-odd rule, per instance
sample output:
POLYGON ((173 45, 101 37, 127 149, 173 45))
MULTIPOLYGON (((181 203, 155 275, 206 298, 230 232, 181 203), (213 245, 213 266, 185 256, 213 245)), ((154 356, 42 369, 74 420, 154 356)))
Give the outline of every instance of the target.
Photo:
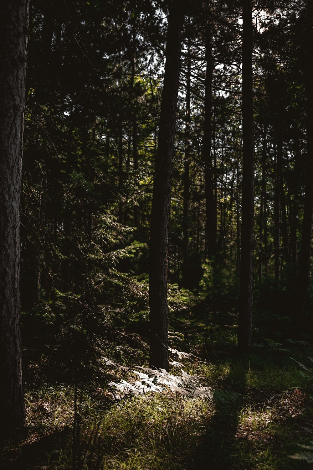
MULTIPOLYGON (((267 352, 271 353, 268 348, 267 352)), ((25 395, 28 435, 13 457, 15 463, 29 462, 29 469, 80 465, 90 470, 112 466, 182 470, 208 463, 213 469, 310 468, 306 457, 312 450, 312 404, 304 392, 288 388, 292 381, 302 387, 307 384, 290 360, 284 371, 265 354, 252 354, 250 367, 247 360, 229 354, 223 362, 196 361, 191 355, 180 360, 186 371, 191 368, 196 374, 194 379, 212 387, 212 399, 184 398, 169 389, 122 399, 100 383, 77 389, 31 387, 25 395), (289 378, 286 383, 276 382, 273 391, 279 371, 289 378), (251 376, 263 384, 262 389, 251 376), (36 452, 27 454, 34 442, 36 452), (302 442, 303 453, 298 452, 297 442, 302 442)), ((134 384, 135 377, 142 383, 145 376, 145 371, 134 375, 130 370, 134 365, 127 362, 105 360, 102 367, 115 383, 134 384)), ((12 458, 11 450, 9 445, 2 458, 12 458)), ((6 465, 8 460, 3 462, 6 465)))

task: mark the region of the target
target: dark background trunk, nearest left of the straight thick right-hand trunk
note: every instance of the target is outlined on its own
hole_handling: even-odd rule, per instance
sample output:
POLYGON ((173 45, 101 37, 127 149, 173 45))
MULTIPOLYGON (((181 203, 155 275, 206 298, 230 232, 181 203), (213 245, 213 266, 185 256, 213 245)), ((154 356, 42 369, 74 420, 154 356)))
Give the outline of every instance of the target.
POLYGON ((211 26, 206 26, 206 78, 204 102, 203 165, 206 198, 206 251, 211 259, 216 253, 216 205, 214 204, 214 176, 211 157, 212 143, 212 57, 211 26))

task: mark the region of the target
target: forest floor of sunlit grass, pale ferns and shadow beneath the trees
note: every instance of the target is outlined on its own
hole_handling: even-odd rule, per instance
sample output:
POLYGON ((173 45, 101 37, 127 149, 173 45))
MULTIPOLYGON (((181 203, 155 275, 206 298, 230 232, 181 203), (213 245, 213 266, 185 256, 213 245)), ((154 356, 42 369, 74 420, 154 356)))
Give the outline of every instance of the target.
POLYGON ((145 371, 130 354, 105 360, 115 385, 29 385, 28 428, 2 448, 1 469, 312 468, 311 347, 263 338, 239 357, 226 320, 212 330, 181 323, 171 335, 167 384, 149 382, 149 372, 138 377, 145 371))

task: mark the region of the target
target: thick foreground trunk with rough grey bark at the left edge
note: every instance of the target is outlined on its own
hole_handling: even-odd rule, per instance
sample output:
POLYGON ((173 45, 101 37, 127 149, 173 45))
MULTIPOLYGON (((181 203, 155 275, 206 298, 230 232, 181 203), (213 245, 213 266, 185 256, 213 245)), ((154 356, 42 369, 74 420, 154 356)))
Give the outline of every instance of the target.
POLYGON ((20 339, 20 198, 28 0, 0 15, 0 403, 1 429, 25 425, 20 339))

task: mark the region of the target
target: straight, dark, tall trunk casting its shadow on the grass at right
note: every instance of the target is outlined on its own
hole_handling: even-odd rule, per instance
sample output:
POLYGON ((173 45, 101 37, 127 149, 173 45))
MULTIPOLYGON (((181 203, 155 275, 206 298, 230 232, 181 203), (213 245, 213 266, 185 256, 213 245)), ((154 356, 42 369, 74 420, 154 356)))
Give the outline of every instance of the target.
POLYGON ((238 348, 247 351, 252 338, 253 274, 253 105, 252 105, 252 6, 243 1, 243 190, 238 348))

